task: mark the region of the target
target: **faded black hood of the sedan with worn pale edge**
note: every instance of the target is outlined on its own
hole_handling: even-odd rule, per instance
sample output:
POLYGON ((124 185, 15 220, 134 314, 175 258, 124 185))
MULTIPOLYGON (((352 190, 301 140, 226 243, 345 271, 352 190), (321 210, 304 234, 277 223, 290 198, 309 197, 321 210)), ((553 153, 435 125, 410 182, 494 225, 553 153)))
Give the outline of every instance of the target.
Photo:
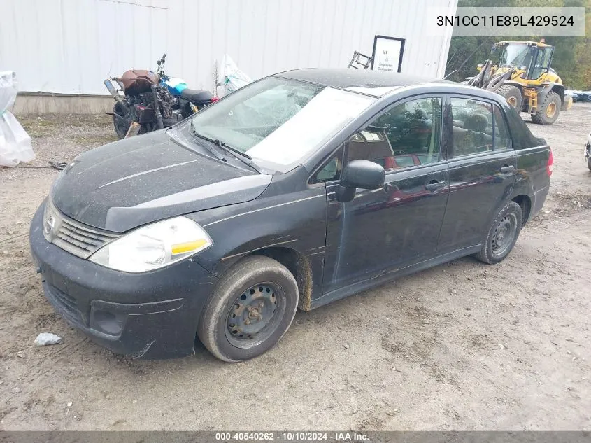
POLYGON ((163 218, 247 202, 271 178, 185 148, 158 131, 76 157, 55 181, 51 198, 80 223, 125 232, 163 218))

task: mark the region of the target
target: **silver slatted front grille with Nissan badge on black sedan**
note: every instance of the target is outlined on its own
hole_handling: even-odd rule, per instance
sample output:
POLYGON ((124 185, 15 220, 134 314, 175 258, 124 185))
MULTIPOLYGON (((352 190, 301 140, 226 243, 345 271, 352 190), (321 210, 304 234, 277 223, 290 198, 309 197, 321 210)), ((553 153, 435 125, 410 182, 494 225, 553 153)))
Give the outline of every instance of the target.
POLYGON ((118 234, 88 227, 67 218, 48 202, 43 218, 43 233, 48 241, 77 255, 89 258, 101 246, 118 237, 118 234), (52 219, 51 223, 48 223, 52 219))

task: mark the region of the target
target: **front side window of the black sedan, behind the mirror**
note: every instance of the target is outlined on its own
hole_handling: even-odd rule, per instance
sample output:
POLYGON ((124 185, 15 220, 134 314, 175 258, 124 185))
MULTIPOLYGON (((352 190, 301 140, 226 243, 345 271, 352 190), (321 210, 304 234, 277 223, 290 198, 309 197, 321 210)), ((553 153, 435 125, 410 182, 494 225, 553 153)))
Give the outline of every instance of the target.
POLYGON ((393 106, 348 141, 348 161, 371 160, 386 171, 439 161, 441 99, 393 106))

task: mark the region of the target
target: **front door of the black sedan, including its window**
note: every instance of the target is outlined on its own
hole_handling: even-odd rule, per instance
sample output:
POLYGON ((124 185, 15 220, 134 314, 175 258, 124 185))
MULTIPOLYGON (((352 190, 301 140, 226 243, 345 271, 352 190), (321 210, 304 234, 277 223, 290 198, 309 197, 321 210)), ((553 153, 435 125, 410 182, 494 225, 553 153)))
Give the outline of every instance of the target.
POLYGON ((381 164, 385 185, 357 189, 353 200, 339 202, 338 181, 327 183, 325 294, 435 255, 449 189, 442 101, 396 104, 346 143, 345 164, 381 164))

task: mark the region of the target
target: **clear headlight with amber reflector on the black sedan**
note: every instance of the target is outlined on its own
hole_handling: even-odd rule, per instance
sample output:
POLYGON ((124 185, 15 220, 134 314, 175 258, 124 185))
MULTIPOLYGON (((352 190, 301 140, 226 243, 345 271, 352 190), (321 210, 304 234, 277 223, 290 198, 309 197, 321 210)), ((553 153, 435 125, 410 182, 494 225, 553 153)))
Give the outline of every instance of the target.
POLYGON ((106 244, 88 260, 124 272, 145 272, 170 265, 213 244, 207 232, 186 217, 140 227, 106 244))

